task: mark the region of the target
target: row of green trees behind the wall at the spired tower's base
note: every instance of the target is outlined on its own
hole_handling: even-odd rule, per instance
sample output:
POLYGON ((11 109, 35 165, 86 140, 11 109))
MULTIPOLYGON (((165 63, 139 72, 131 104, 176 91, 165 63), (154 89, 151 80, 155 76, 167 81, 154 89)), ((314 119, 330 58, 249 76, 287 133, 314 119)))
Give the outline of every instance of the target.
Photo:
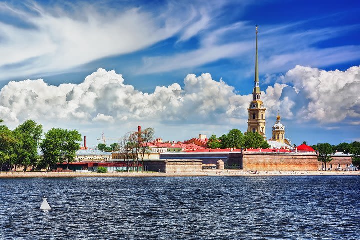
POLYGON ((219 138, 211 135, 207 141, 207 147, 211 149, 225 148, 270 148, 267 141, 258 132, 242 132, 238 129, 232 129, 227 134, 219 138))

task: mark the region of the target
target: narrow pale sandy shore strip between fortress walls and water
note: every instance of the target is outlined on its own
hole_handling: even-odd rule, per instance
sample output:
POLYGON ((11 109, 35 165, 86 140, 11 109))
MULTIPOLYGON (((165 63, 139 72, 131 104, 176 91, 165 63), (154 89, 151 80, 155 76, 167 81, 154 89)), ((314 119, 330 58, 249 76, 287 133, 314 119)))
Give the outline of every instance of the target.
POLYGON ((204 172, 112 172, 112 173, 75 173, 75 172, 1 172, 0 178, 18 177, 156 177, 156 176, 315 176, 315 175, 360 175, 360 171, 260 171, 256 174, 241 170, 204 171, 204 172))

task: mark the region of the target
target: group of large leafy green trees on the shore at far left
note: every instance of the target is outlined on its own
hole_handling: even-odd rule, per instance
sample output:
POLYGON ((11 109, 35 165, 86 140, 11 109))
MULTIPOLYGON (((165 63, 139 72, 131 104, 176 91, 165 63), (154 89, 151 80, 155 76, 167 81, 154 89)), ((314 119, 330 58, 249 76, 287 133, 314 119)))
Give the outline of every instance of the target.
MULTIPOLYGON (((31 170, 50 170, 57 163, 71 162, 80 149, 81 134, 77 130, 52 128, 45 133, 43 127, 29 119, 14 130, 0 119, 0 170, 16 170, 30 166, 31 170), (40 148, 43 157, 38 155, 40 148)), ((67 165, 68 166, 68 165, 67 165)))

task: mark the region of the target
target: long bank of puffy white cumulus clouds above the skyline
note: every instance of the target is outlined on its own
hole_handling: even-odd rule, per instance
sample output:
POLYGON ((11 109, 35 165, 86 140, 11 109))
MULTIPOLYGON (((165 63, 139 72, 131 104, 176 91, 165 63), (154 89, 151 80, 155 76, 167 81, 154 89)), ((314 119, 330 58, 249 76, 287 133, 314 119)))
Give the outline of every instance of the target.
MULTIPOLYGON (((324 71, 296 66, 262 94, 266 116, 280 110, 284 118, 336 123, 360 117, 360 67, 324 71)), ((246 123, 251 94, 235 89, 209 73, 189 74, 178 83, 143 93, 127 85, 121 74, 99 68, 80 84, 53 86, 44 80, 11 81, 0 92, 0 118, 18 123, 128 124, 146 121, 223 125, 246 123)), ((269 120, 271 122, 271 120, 269 120)))

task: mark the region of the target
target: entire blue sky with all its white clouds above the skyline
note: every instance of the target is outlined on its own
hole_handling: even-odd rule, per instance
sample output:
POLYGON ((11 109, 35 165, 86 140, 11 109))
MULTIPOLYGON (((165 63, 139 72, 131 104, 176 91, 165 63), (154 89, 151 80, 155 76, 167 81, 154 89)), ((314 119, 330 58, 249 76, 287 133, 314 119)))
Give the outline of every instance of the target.
POLYGON ((258 25, 266 135, 360 141, 360 2, 0 1, 0 119, 111 144, 247 130, 258 25))

